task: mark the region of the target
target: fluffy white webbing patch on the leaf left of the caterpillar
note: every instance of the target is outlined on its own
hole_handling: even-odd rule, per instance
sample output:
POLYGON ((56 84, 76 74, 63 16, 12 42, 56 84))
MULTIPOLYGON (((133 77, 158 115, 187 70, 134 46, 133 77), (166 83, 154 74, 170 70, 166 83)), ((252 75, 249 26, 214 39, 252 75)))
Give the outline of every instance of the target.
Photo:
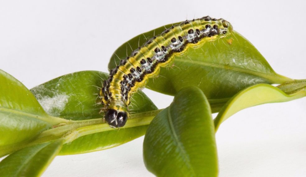
POLYGON ((58 116, 65 109, 65 105, 68 103, 68 98, 69 95, 61 93, 56 94, 53 97, 38 97, 38 102, 48 114, 58 116))

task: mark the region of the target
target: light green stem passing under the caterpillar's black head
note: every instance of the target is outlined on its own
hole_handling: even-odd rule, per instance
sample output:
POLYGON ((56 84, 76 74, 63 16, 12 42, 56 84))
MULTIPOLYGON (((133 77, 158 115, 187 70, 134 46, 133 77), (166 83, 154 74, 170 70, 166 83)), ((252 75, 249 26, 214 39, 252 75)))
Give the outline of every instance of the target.
MULTIPOLYGON (((123 128, 138 127, 142 125, 149 125, 152 119, 161 111, 162 109, 131 114, 126 125, 123 128)), ((60 138, 65 140, 65 143, 72 142, 76 138, 104 131, 116 130, 109 127, 109 125, 100 119, 89 119, 89 120, 70 120, 65 124, 58 124, 53 126, 48 130, 40 133, 37 137, 32 139, 30 142, 21 142, 18 144, 10 145, 7 147, 1 147, 0 156, 10 154, 16 150, 22 149, 24 147, 33 146, 36 144, 41 144, 45 142, 51 142, 60 138), (13 146, 13 147, 12 147, 13 146)))

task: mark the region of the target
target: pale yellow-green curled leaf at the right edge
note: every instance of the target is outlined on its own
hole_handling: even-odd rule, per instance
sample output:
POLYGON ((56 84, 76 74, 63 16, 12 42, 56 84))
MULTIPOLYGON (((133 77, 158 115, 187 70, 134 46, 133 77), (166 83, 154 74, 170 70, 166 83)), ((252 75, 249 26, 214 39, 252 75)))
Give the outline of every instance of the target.
POLYGON ((290 101, 306 96, 305 80, 286 83, 278 87, 285 92, 275 86, 257 84, 237 93, 224 105, 214 120, 216 131, 222 122, 242 109, 265 103, 290 101))

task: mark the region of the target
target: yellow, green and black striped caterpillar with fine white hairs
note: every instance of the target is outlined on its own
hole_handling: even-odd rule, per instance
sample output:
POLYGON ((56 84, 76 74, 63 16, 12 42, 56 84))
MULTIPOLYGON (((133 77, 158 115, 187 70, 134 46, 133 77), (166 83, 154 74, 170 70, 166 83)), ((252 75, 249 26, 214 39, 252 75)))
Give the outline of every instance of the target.
POLYGON ((220 18, 205 16, 183 21, 156 35, 110 70, 109 78, 100 89, 104 119, 110 127, 123 127, 128 119, 130 97, 156 77, 160 67, 168 67, 176 55, 196 48, 206 41, 215 41, 229 35, 232 25, 220 18))

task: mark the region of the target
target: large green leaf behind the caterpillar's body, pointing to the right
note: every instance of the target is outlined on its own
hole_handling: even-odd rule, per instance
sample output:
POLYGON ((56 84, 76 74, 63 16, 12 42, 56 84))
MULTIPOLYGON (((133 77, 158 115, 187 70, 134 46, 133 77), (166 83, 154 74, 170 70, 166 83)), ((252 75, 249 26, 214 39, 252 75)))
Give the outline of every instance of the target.
MULTIPOLYGON (((172 25, 143 33, 122 44, 111 57, 108 68, 116 67, 116 63, 130 55, 139 44, 144 44, 154 34, 161 34, 172 25)), ((233 95, 249 86, 292 81, 275 73, 258 50, 236 31, 226 38, 188 49, 183 56, 174 57, 172 67, 161 68, 159 75, 154 81, 149 80, 147 88, 175 95, 183 87, 197 86, 216 111, 233 95)))

